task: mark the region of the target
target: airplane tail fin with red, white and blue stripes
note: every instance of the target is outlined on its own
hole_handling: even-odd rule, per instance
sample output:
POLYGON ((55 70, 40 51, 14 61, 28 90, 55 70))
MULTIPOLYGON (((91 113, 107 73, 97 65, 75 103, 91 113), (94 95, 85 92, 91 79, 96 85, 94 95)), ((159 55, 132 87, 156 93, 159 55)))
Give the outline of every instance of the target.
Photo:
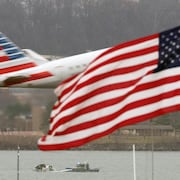
POLYGON ((28 56, 0 32, 0 75, 35 67, 47 61, 38 61, 28 56))

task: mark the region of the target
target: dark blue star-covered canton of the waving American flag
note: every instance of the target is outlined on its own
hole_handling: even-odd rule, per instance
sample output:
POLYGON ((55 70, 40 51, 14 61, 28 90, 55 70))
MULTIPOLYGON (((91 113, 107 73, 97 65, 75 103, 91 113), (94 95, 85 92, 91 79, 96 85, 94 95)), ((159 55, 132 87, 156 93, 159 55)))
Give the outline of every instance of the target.
POLYGON ((180 66, 180 26, 160 33, 159 62, 155 72, 180 66))

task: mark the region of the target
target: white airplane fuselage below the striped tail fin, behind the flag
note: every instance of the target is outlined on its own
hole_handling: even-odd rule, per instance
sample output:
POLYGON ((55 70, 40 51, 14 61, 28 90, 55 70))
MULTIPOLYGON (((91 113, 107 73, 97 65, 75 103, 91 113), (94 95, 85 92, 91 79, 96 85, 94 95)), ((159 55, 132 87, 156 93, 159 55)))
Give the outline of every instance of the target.
POLYGON ((40 66, 3 74, 0 86, 22 88, 55 88, 63 80, 82 72, 87 65, 107 49, 49 61, 40 66), (17 77, 17 79, 11 79, 17 77), (25 78, 23 78, 25 77, 25 78), (3 79, 7 79, 3 81, 3 79))

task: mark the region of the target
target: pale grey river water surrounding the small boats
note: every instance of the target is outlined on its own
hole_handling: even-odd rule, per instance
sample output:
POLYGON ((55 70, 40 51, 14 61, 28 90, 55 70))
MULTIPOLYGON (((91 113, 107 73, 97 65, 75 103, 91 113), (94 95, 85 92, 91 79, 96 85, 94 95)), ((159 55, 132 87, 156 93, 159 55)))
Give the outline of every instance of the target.
MULTIPOLYGON (((131 151, 20 151, 19 180, 133 180, 131 151), (66 167, 88 161, 93 173, 62 173, 66 167), (48 163, 56 172, 35 172, 48 163)), ((136 152, 137 180, 179 180, 180 152, 136 152), (153 162, 153 163, 152 163, 153 162), (152 165, 153 164, 153 165, 152 165)), ((0 151, 0 180, 17 180, 17 152, 0 151)))

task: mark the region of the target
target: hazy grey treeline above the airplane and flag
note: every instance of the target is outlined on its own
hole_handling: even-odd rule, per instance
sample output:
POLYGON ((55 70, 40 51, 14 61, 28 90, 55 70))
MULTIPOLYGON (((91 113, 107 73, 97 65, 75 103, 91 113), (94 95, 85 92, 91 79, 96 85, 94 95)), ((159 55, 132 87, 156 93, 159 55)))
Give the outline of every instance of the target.
POLYGON ((20 47, 71 55, 179 25, 179 0, 0 0, 0 31, 20 47))

